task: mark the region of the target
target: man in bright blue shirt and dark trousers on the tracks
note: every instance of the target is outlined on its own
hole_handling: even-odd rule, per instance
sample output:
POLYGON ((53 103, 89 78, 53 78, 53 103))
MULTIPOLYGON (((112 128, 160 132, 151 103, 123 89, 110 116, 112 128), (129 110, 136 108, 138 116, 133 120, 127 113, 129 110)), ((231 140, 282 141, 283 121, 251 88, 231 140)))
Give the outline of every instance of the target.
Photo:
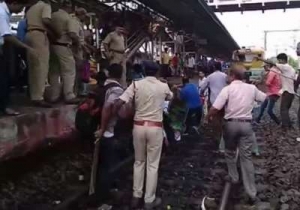
POLYGON ((180 99, 186 103, 188 115, 186 119, 186 134, 193 128, 198 132, 198 125, 202 116, 202 102, 196 85, 191 84, 189 79, 182 79, 183 88, 180 91, 180 99))

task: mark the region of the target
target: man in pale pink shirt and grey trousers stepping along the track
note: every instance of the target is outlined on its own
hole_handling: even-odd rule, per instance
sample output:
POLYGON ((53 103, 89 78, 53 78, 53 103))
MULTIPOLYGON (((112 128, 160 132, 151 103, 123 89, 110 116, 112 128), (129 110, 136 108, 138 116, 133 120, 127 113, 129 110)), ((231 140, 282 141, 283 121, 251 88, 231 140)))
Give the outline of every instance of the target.
POLYGON ((243 183, 250 203, 257 201, 254 166, 251 159, 253 144, 252 109, 255 101, 263 102, 266 94, 256 86, 246 84, 242 80, 245 68, 241 65, 232 67, 229 73, 231 84, 223 88, 212 108, 208 119, 214 117, 225 108, 223 136, 225 141, 225 157, 228 166, 228 180, 232 183, 239 181, 237 163, 235 162, 236 149, 239 149, 239 159, 242 170, 243 183))

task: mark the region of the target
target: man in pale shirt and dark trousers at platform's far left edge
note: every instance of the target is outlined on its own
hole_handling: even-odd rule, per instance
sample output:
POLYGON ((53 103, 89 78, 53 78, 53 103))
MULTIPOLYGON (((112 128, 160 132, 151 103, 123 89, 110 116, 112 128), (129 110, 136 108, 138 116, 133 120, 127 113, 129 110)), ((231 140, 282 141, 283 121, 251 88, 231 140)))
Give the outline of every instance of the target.
POLYGON ((9 71, 5 67, 8 63, 9 53, 6 53, 6 44, 10 43, 17 48, 27 49, 34 53, 28 45, 12 35, 10 29, 10 17, 12 13, 20 13, 28 2, 26 0, 5 0, 0 2, 0 115, 18 115, 19 113, 7 108, 10 88, 9 71))

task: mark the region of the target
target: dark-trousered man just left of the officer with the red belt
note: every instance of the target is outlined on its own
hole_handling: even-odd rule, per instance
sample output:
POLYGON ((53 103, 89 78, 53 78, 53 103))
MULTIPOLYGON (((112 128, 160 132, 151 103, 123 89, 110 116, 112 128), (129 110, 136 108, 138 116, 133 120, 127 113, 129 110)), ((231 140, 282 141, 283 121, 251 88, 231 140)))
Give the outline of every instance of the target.
POLYGON ((96 195, 98 199, 101 198, 101 201, 109 199, 109 191, 114 181, 110 170, 119 161, 119 154, 115 146, 118 141, 115 135, 115 126, 118 117, 113 114, 113 105, 124 92, 120 84, 122 70, 120 64, 112 64, 108 68, 108 79, 105 81, 104 87, 111 87, 106 89, 100 129, 95 133, 95 137, 100 141, 100 167, 97 173, 96 195))

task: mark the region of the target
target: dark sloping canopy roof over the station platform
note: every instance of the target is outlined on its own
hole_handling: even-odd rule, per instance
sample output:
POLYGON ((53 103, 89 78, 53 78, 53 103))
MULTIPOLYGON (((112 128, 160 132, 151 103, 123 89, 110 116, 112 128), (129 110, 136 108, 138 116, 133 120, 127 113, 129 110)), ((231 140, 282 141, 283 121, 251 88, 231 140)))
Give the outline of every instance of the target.
POLYGON ((239 46, 203 0, 139 0, 172 20, 178 29, 207 41, 209 54, 231 57, 239 46))

